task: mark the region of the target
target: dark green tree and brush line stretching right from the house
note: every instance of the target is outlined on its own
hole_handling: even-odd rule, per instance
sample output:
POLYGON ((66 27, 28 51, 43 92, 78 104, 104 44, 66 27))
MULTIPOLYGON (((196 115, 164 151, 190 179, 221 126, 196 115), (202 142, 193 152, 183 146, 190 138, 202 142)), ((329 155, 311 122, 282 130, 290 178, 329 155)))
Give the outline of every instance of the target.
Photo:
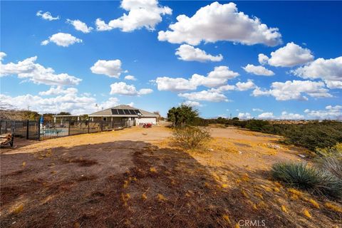
POLYGON ((199 118, 197 110, 188 105, 173 107, 167 113, 167 120, 175 127, 185 125, 207 126, 222 124, 249 130, 284 136, 287 144, 306 147, 309 150, 333 147, 342 142, 342 123, 333 120, 310 121, 308 123, 271 123, 268 120, 239 120, 239 118, 199 118))

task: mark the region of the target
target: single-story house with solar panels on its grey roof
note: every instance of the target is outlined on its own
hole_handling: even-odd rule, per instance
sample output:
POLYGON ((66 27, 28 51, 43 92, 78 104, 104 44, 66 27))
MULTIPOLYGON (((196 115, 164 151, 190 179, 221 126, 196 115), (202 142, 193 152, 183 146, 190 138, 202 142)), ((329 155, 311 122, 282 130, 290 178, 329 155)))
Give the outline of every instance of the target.
POLYGON ((118 105, 113 108, 100 110, 88 115, 90 120, 105 120, 118 122, 122 120, 133 120, 134 125, 142 125, 144 123, 157 124, 159 115, 150 113, 130 105, 118 105))

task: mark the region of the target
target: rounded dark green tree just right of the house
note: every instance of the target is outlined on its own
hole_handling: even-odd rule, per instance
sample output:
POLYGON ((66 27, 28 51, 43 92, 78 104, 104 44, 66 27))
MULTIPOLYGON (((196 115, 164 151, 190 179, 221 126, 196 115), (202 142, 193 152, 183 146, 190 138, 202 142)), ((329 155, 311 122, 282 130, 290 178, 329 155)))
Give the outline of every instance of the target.
POLYGON ((185 125, 192 125, 194 120, 198 117, 198 111, 190 105, 180 105, 177 108, 172 107, 167 112, 167 120, 172 122, 175 127, 184 127, 185 125))

